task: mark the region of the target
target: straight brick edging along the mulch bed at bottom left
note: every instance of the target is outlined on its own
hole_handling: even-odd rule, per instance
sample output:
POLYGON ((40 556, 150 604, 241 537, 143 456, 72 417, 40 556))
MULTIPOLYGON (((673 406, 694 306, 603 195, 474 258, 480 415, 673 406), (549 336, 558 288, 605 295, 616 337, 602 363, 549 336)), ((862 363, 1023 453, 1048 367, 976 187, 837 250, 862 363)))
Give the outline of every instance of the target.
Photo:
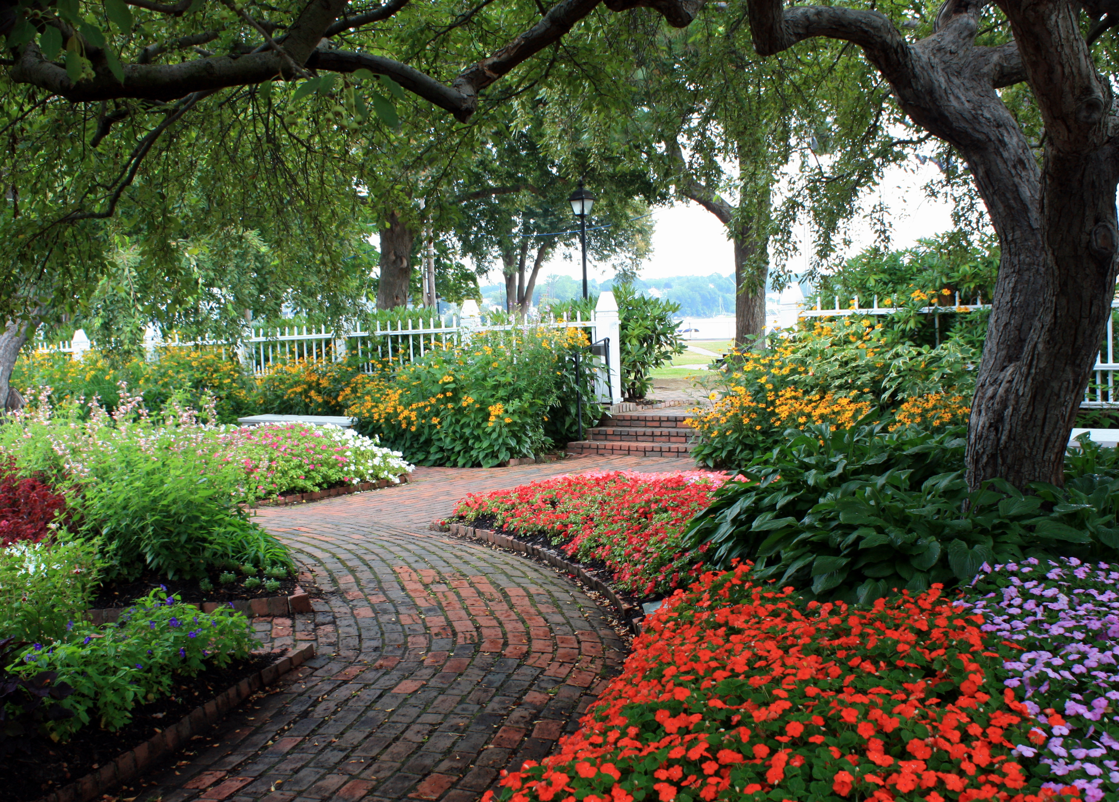
POLYGON ((186 745, 191 736, 217 724, 225 714, 260 688, 272 685, 294 668, 314 657, 314 647, 308 644, 297 652, 281 658, 256 673, 245 677, 223 694, 218 694, 205 705, 199 705, 179 721, 152 736, 133 749, 106 763, 95 772, 90 772, 68 785, 40 796, 36 802, 88 802, 104 794, 117 783, 131 780, 164 754, 172 754, 186 745))

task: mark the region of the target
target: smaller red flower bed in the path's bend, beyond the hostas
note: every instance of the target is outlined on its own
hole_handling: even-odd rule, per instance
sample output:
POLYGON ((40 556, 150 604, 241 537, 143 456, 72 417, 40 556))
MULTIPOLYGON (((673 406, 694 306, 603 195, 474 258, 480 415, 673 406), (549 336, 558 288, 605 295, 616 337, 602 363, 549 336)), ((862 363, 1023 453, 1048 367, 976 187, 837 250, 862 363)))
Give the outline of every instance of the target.
POLYGON ((677 587, 699 562, 680 542, 684 527, 726 479, 707 471, 555 477, 472 493, 454 516, 492 517, 507 530, 545 534, 571 556, 605 563, 619 588, 649 595, 677 587))

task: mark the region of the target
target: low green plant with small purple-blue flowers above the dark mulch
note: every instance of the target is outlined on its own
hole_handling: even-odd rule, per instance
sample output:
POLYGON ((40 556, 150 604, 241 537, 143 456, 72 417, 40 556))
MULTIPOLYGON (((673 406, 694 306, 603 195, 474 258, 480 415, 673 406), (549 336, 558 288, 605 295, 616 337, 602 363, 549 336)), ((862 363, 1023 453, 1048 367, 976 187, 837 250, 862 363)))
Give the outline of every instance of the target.
POLYGON ((232 607, 201 613, 156 591, 115 624, 75 625, 65 640, 35 644, 13 670, 26 677, 56 671, 57 681, 74 689, 58 702, 74 716, 46 725, 51 737, 65 740, 91 721, 119 729, 133 707, 167 696, 176 674, 226 666, 255 644, 252 626, 232 607))

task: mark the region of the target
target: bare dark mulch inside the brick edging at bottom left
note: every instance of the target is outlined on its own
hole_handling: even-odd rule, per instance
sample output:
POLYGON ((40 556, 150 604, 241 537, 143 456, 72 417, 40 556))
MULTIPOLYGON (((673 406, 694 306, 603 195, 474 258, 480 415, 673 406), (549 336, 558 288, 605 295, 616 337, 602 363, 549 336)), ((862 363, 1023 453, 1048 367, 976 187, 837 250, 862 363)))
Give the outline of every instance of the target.
POLYGON ((197 677, 182 678, 176 683, 173 696, 134 708, 132 720, 115 733, 91 724, 65 744, 56 744, 44 736, 28 738, 28 752, 17 752, 0 761, 0 799, 32 802, 68 785, 134 749, 275 659, 275 654, 255 654, 225 668, 211 668, 197 677))

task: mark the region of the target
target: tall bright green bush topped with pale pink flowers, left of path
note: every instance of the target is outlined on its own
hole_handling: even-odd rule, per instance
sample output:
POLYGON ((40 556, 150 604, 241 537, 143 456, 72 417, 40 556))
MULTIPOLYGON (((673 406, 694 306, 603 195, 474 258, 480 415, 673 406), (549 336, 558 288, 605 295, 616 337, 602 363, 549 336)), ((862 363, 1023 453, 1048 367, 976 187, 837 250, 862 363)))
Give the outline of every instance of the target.
POLYGON ((107 579, 147 569, 200 578, 227 560, 289 565, 286 547, 238 504, 245 474, 225 459, 223 432, 189 409, 163 422, 142 409, 129 395, 115 418, 96 404, 44 406, 0 427, 0 446, 22 471, 73 487, 73 534, 100 538, 107 579))

